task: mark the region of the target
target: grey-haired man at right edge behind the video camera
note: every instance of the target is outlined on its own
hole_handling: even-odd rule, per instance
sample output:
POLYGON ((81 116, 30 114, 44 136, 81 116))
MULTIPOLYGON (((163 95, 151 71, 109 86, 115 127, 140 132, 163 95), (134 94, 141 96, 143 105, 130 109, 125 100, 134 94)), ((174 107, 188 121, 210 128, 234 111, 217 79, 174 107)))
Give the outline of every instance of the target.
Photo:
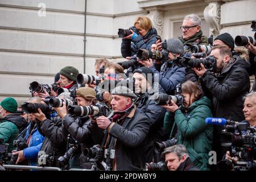
MULTIPOLYGON (((245 116, 245 121, 249 123, 250 127, 256 129, 256 92, 251 92, 245 96, 245 102, 243 107, 243 115, 245 116)), ((242 135, 248 134, 250 131, 243 131, 242 135)), ((253 149, 254 153, 256 151, 256 148, 253 149)), ((254 156, 250 156, 254 157, 254 156)), ((238 158, 230 156, 230 152, 227 151, 225 155, 225 159, 230 159, 234 163, 237 163, 238 158)), ((256 159, 254 158, 254 163, 256 163, 256 159)))

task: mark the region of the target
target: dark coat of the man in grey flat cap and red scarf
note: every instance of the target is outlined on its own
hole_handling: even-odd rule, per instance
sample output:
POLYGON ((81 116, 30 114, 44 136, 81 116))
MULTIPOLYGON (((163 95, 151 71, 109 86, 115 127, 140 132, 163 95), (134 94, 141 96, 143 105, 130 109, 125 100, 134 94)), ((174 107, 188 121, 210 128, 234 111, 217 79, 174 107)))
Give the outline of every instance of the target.
MULTIPOLYGON (((115 150, 113 169, 118 171, 142 170, 145 163, 146 137, 150 122, 139 109, 133 109, 123 119, 118 119, 105 132, 108 134, 108 147, 115 150)), ((90 127, 92 135, 98 127, 90 127)))

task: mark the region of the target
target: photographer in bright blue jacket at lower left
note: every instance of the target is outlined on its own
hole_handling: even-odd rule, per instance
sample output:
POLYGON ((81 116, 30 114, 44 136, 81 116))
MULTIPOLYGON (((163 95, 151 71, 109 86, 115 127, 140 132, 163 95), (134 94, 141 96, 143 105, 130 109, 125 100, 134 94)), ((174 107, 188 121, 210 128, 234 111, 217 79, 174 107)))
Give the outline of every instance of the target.
MULTIPOLYGON (((28 103, 37 103, 39 104, 41 101, 40 97, 31 97, 27 102, 28 103)), ((36 118, 33 114, 29 114, 30 125, 27 127, 26 135, 24 139, 26 139, 27 148, 24 150, 15 151, 13 155, 18 155, 18 159, 16 160, 16 164, 23 162, 23 160, 27 159, 28 166, 36 166, 36 162, 38 159, 38 152, 42 147, 44 142, 44 137, 39 133, 38 128, 36 127, 36 118)))

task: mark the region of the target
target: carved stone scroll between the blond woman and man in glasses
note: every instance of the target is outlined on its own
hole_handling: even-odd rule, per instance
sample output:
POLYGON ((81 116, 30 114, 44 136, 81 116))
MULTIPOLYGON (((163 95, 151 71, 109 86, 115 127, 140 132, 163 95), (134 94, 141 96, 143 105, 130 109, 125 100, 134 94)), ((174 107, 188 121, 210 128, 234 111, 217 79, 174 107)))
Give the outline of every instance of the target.
POLYGON ((151 10, 147 15, 152 21, 152 26, 158 31, 158 35, 163 37, 164 11, 151 10))

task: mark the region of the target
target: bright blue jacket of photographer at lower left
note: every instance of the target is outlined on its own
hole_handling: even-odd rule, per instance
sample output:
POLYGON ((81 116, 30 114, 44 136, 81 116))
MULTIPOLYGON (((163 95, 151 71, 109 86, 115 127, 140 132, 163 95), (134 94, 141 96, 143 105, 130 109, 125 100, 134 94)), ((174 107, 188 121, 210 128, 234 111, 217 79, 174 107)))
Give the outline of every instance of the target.
MULTIPOLYGON (((27 127, 27 133, 25 138, 28 139, 30 136, 30 127, 32 126, 32 122, 27 127)), ((41 135, 38 131, 38 128, 35 126, 35 129, 31 131, 31 139, 28 143, 28 147, 23 150, 23 155, 26 159, 28 159, 28 165, 30 166, 36 166, 36 162, 38 159, 38 152, 40 151, 40 148, 42 147, 44 138, 43 135, 41 135)))

